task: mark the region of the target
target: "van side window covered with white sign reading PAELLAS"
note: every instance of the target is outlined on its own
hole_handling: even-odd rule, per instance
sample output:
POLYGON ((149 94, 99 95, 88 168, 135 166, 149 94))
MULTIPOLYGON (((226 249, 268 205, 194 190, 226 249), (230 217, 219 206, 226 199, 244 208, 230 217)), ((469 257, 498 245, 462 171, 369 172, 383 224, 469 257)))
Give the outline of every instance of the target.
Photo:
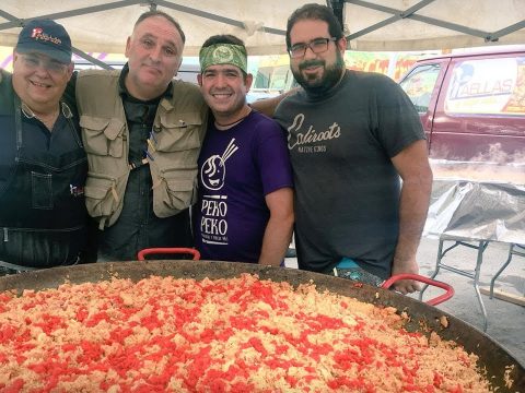
POLYGON ((454 66, 447 115, 525 115, 525 57, 476 59, 454 66))

